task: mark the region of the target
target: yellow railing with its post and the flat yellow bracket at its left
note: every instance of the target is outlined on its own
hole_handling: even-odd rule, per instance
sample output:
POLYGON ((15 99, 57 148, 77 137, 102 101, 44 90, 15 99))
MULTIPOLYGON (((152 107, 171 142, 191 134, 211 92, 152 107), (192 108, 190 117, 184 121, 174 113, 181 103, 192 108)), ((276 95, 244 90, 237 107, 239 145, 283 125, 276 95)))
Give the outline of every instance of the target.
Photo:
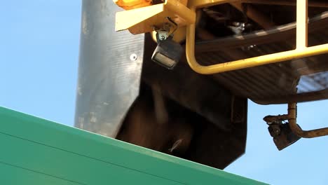
MULTIPOLYGON (((132 34, 152 32, 153 26, 157 27, 163 25, 163 23, 165 23, 165 18, 172 18, 172 20, 177 23, 178 27, 182 28, 186 26, 186 59, 191 69, 200 74, 217 74, 225 71, 245 69, 247 67, 256 67, 264 64, 328 53, 328 44, 307 47, 308 0, 298 0, 296 2, 296 50, 224 62, 221 64, 212 64, 210 66, 199 64, 194 53, 196 10, 201 7, 229 2, 233 2, 233 0, 190 0, 187 7, 184 5, 185 2, 182 4, 177 0, 165 0, 163 4, 118 12, 116 13, 116 31, 129 29, 132 34)), ((184 34, 182 34, 182 36, 184 36, 184 34)), ((177 40, 179 41, 181 39, 177 40)))

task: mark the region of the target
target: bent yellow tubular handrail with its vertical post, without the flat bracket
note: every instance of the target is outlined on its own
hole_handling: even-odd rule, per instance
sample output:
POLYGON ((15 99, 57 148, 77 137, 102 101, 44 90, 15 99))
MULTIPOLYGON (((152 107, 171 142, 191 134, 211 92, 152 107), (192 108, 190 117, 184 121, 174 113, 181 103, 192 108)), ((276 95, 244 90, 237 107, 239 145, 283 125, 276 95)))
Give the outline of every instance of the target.
MULTIPOLYGON (((223 4, 228 1, 225 0, 212 0, 200 1, 193 0, 189 3, 190 9, 196 11, 196 8, 203 6, 210 6, 212 4, 223 4), (203 2, 203 4, 202 4, 203 2)), ((231 2, 231 1, 230 1, 231 2)), ((196 25, 191 24, 187 26, 186 30, 186 59, 194 71, 200 74, 217 74, 224 71, 233 71, 236 69, 245 69, 247 67, 256 67, 264 64, 271 64, 275 62, 282 62, 301 57, 308 57, 312 55, 320 55, 328 53, 328 44, 319 46, 307 47, 307 3, 308 0, 297 1, 297 21, 296 21, 296 49, 289 50, 281 53, 273 53, 271 55, 263 55, 259 57, 252 57, 244 60, 235 60, 233 62, 225 62, 221 64, 213 64, 210 66, 203 66, 199 64, 195 57, 195 29, 196 25), (304 13, 304 11, 306 13, 304 13)))

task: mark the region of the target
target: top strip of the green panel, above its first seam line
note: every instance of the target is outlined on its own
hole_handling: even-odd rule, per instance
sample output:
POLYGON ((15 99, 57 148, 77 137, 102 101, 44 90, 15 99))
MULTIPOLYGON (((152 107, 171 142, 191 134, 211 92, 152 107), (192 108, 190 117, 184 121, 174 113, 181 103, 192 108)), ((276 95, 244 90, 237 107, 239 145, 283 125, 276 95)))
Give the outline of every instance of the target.
POLYGON ((165 153, 151 151, 3 107, 0 107, 0 124, 0 132, 7 135, 96 158, 182 184, 263 184, 165 153))

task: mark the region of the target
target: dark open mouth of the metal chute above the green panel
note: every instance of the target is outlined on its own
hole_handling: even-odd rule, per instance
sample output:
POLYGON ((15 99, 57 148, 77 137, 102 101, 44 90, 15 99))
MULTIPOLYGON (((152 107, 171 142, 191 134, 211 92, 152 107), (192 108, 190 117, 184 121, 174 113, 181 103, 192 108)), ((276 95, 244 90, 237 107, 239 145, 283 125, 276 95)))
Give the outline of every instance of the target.
POLYGON ((171 71, 146 60, 155 47, 146 36, 139 97, 117 138, 223 169, 245 152, 247 99, 183 62, 171 71))

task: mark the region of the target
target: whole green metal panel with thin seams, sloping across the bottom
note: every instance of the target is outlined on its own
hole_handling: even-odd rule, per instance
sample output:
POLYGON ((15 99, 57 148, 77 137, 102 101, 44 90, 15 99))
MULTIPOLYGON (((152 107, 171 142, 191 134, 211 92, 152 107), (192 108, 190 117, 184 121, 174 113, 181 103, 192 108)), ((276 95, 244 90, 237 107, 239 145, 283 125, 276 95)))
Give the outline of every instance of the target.
POLYGON ((0 184, 262 184, 0 107, 0 184))

